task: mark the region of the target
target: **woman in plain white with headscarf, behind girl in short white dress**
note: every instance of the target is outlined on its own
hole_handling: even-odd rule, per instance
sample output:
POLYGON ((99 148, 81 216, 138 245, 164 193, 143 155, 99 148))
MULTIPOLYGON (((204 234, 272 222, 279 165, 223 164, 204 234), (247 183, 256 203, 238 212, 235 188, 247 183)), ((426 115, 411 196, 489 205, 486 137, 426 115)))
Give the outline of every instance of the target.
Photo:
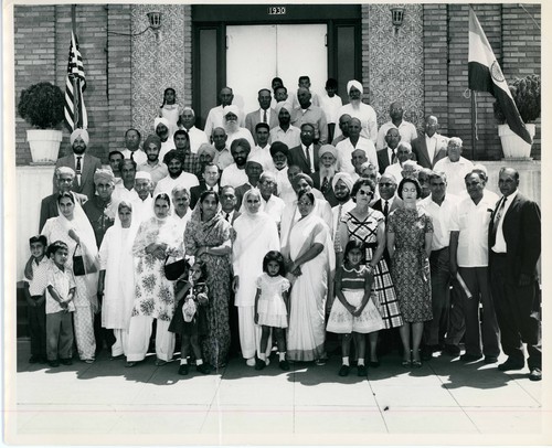
MULTIPOLYGON (((278 228, 274 220, 261 212, 261 192, 247 190, 243 196, 244 214, 234 222, 236 239, 233 247, 240 343, 247 365, 255 365, 255 351, 261 344, 261 327, 255 324, 256 280, 263 274, 263 258, 269 250, 279 250, 278 228)), ((267 344, 269 354, 272 344, 267 344)))

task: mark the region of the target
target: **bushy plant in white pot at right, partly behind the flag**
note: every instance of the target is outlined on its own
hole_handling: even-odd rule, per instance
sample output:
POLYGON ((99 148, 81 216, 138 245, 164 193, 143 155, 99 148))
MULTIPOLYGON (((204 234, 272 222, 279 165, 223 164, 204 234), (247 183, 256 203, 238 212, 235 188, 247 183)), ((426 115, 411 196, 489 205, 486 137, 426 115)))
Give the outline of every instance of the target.
MULTIPOLYGON (((535 134, 535 125, 533 121, 541 116, 541 77, 539 75, 529 75, 517 78, 509 87, 521 119, 526 124, 529 135, 533 138, 535 134)), ((505 114, 498 102, 495 102, 492 106, 495 109, 495 117, 499 122, 498 136, 502 143, 505 158, 530 160, 531 145, 512 132, 510 127, 506 124, 505 114)))

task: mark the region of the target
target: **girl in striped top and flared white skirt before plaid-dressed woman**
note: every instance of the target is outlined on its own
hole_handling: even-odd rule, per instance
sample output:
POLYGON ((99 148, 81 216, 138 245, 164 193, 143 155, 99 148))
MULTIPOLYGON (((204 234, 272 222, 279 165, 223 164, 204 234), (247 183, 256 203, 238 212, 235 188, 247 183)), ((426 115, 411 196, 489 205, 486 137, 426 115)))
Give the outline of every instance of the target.
POLYGON ((372 290, 373 275, 365 266, 364 243, 351 239, 347 243, 343 264, 336 273, 336 296, 327 330, 342 334, 341 352, 343 356, 339 376, 349 374, 349 351, 351 334, 358 351, 358 375, 367 376, 364 365, 365 333, 384 328, 383 320, 375 307, 378 297, 372 290))

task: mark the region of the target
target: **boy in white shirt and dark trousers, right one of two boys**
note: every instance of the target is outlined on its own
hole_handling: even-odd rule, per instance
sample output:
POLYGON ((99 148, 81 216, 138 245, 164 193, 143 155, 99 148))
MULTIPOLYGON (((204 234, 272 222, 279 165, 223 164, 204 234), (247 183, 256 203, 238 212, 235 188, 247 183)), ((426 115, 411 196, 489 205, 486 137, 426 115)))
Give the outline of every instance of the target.
POLYGON ((47 247, 46 255, 52 259, 46 281, 46 354, 51 367, 73 364, 73 317, 75 311, 75 278, 65 268, 68 247, 56 241, 47 247), (57 361, 57 359, 60 361, 57 361))

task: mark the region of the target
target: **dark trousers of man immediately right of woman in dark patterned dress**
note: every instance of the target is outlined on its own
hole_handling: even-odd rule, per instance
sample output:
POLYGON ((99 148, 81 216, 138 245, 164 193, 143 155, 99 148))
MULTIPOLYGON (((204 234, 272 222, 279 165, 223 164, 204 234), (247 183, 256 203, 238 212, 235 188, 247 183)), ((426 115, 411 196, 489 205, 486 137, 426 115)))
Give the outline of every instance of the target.
POLYGON ((450 254, 448 247, 433 250, 429 255, 432 275, 433 319, 424 323, 424 342, 437 345, 445 341, 450 308, 450 254))

